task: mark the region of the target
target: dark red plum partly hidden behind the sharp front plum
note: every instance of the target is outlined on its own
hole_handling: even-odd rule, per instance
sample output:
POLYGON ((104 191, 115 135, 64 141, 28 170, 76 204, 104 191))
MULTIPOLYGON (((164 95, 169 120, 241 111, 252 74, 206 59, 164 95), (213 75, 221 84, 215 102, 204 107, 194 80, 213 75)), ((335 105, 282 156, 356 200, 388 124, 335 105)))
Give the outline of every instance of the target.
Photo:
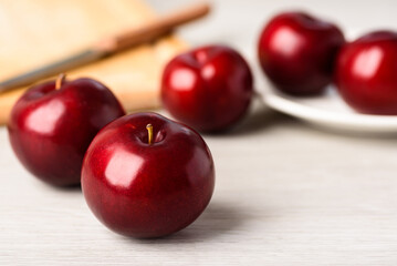
POLYGON ((80 184, 86 149, 95 134, 124 115, 102 83, 91 79, 38 84, 15 103, 8 124, 11 146, 24 167, 55 186, 80 184))

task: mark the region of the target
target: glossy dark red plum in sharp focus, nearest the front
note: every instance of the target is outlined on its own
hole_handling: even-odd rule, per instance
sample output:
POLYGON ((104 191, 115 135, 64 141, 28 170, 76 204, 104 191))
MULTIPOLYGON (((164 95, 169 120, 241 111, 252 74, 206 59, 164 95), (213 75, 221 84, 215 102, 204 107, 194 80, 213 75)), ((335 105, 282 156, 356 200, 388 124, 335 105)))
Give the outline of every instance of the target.
POLYGON ((104 127, 84 158, 82 188, 94 215, 126 236, 161 237, 191 224, 215 186, 211 153, 192 129, 156 113, 104 127), (146 125, 153 125, 148 144, 146 125))

